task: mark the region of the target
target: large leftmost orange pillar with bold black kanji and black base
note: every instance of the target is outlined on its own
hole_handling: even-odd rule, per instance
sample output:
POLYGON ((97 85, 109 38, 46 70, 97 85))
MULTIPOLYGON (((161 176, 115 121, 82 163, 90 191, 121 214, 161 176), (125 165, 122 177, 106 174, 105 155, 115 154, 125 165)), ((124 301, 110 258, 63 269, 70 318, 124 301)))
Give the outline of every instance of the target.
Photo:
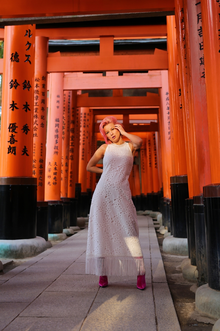
MULTIPOLYGON (((32 177, 35 25, 6 26, 4 38, 0 239, 29 239, 36 237, 37 204, 37 181, 32 177)), ((7 254, 26 257, 16 242, 14 253, 11 247, 4 244, 7 254)))

